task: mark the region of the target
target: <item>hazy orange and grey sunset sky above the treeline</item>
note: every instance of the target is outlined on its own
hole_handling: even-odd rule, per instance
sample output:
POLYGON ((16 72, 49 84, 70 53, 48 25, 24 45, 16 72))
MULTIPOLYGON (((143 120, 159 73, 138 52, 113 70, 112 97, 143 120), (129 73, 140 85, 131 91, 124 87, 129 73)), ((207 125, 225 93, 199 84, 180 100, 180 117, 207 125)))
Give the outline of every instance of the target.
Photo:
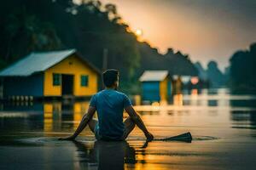
POLYGON ((102 0, 114 3, 131 29, 165 53, 181 50, 203 65, 211 59, 223 70, 230 55, 256 42, 253 0, 102 0))

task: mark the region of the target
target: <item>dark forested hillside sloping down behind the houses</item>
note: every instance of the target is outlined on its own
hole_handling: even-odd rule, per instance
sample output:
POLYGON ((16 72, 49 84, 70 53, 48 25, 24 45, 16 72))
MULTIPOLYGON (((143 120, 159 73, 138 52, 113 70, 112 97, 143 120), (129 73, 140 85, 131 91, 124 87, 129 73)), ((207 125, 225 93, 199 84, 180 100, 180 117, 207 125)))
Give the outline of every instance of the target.
POLYGON ((77 48, 99 69, 119 69, 121 85, 127 89, 145 69, 197 74, 187 55, 162 55, 147 42, 137 42, 117 8, 97 0, 80 5, 71 0, 3 1, 0 47, 0 69, 32 51, 77 48))

